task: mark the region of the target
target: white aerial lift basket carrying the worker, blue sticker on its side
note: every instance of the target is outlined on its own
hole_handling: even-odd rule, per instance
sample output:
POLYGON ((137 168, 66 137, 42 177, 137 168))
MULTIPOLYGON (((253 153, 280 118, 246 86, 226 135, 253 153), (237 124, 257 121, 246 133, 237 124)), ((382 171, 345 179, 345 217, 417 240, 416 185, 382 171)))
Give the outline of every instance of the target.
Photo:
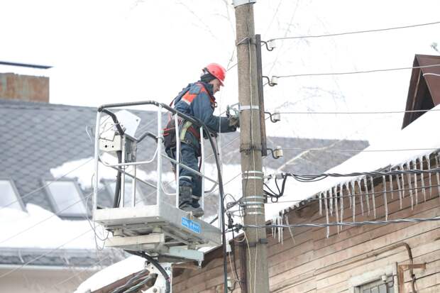
MULTIPOLYGON (((148 121, 150 122, 150 121, 148 121)), ((179 166, 202 177, 202 191, 204 191, 205 181, 211 182, 211 189, 202 194, 202 208, 204 208, 204 197, 212 194, 216 187, 221 189, 221 177, 211 178, 204 175, 204 139, 203 133, 209 130, 200 121, 186 116, 166 104, 156 101, 143 101, 124 104, 108 104, 99 107, 97 111, 97 124, 94 141, 94 194, 93 194, 93 220, 113 237, 107 239, 106 246, 122 248, 124 250, 143 251, 149 255, 157 257, 160 262, 177 262, 185 260, 203 260, 203 253, 197 248, 213 247, 221 244, 221 216, 218 216, 218 225, 198 219, 191 213, 178 209, 179 186, 175 180, 175 193, 170 194, 164 187, 163 182, 163 160, 174 162, 176 167, 175 175, 179 178, 179 166), (136 138, 136 128, 140 125, 141 119, 127 111, 133 106, 154 106, 157 111, 157 129, 155 131, 145 131, 136 138), (193 170, 180 163, 180 141, 177 140, 176 158, 169 157, 163 149, 163 127, 165 114, 175 119, 183 118, 199 126, 201 133, 201 168, 193 170), (149 160, 136 160, 138 144, 147 138, 154 145, 155 152, 149 160), (106 159, 112 155, 112 162, 106 159), (115 162, 117 157, 117 161, 115 162), (155 165, 156 178, 148 181, 139 174, 142 165, 155 165), (119 201, 114 202, 114 206, 104 208, 97 204, 103 169, 116 170, 116 189, 119 188, 119 201), (138 174, 136 174, 138 170, 138 174), (119 182, 118 182, 119 181, 119 182), (150 189, 154 189, 155 204, 139 204, 136 186, 144 184, 150 189), (130 188, 128 188, 130 185, 130 188), (118 187, 119 186, 119 187, 118 187), (131 189, 129 191, 129 189, 131 189), (175 204, 165 201, 165 197, 175 196, 175 204), (129 200, 127 200, 129 199, 129 200), (136 202, 138 201, 138 203, 136 202), (127 204, 129 202, 129 204, 127 204)), ((176 128, 176 132, 178 129, 176 128)), ((176 137, 179 137, 176 133, 176 137)), ((216 146, 212 136, 209 138, 214 155, 216 146)), ((219 170, 218 160, 217 170, 219 170)), ((115 171, 113 171, 115 172, 115 171)), ((219 172, 217 173, 219 174, 219 172)), ((116 196, 116 194, 115 194, 116 196)), ((221 203, 219 198, 219 213, 221 203)))

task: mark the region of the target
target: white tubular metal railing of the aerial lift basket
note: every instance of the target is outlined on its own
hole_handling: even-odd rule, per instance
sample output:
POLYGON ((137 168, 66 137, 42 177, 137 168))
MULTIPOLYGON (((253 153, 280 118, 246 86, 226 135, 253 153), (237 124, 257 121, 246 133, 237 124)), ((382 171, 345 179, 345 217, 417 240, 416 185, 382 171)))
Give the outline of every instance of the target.
MULTIPOLYGON (((124 149, 123 149, 124 150, 124 149)), ((94 141, 94 157, 95 157, 95 165, 94 165, 94 194, 93 194, 93 210, 97 210, 97 194, 98 194, 98 184, 99 184, 99 163, 101 162, 105 167, 111 167, 114 170, 117 170, 120 172, 121 176, 121 187, 124 186, 126 182, 126 177, 131 177, 132 180, 132 192, 131 192, 131 207, 136 206, 136 182, 141 182, 143 184, 148 185, 149 187, 152 187, 155 189, 156 192, 156 204, 160 205, 164 203, 164 195, 170 194, 165 190, 165 187, 163 186, 163 159, 168 160, 176 165, 175 167, 175 205, 178 208, 179 207, 179 175, 180 175, 180 167, 185 168, 189 172, 194 173, 195 175, 198 175, 201 177, 202 181, 202 198, 201 198, 201 206, 202 209, 204 209, 204 197, 205 194, 211 194, 214 192, 215 187, 219 186, 219 210, 218 214, 221 215, 223 211, 223 201, 221 200, 223 198, 223 184, 221 180, 221 169, 219 165, 219 157, 216 152, 216 142, 214 141, 213 136, 211 135, 211 131, 207 126, 202 123, 202 121, 197 120, 194 117, 187 116, 179 111, 176 111, 172 107, 168 106, 167 104, 162 104, 157 101, 139 101, 139 102, 131 102, 131 103, 120 103, 120 104, 106 104, 103 106, 100 106, 97 111, 97 123, 96 123, 96 131, 95 131, 95 141, 94 141), (123 109, 124 107, 130 107, 130 106, 155 106, 157 107, 157 135, 146 132, 139 138, 135 138, 133 136, 129 136, 127 133, 124 133, 123 128, 121 127, 120 121, 118 121, 118 118, 114 112, 112 112, 110 109, 123 109), (194 126, 197 126, 200 131, 200 140, 201 140, 201 154, 200 154, 200 170, 194 170, 191 167, 188 167, 185 164, 182 164, 180 162, 180 150, 181 150, 181 143, 179 139, 179 128, 175 127, 176 131, 176 157, 175 159, 172 157, 169 157, 164 152, 164 146, 163 146, 163 114, 164 111, 167 113, 172 114, 172 119, 175 120, 175 125, 177 126, 178 118, 183 118, 186 121, 189 121, 193 123, 194 126), (149 160, 143 160, 143 161, 133 161, 133 162, 126 162, 126 152, 122 151, 121 153, 121 160, 118 163, 109 163, 104 160, 104 158, 101 155, 101 150, 99 148, 99 140, 101 138, 101 133, 99 131, 101 127, 101 116, 102 114, 106 114, 114 122, 114 126, 116 127, 116 131, 119 133, 119 136, 121 137, 121 148, 125 148, 125 139, 131 140, 133 143, 133 148, 136 152, 136 144, 139 143, 143 138, 149 136, 150 138, 153 138, 155 140, 155 151, 153 153, 153 157, 151 157, 149 160), (204 136, 204 133, 206 136, 204 136), (211 145, 212 151, 214 153, 214 157, 216 159, 216 169, 217 169, 217 178, 211 178, 207 175, 204 175, 205 171, 205 150, 204 150, 204 137, 207 137, 209 139, 209 143, 211 145), (148 165, 153 162, 156 162, 157 164, 157 170, 156 170, 156 182, 148 182, 147 180, 141 179, 136 175, 136 168, 141 165, 148 165), (127 172, 127 168, 132 167, 133 172, 127 172), (205 179, 209 182, 212 182, 214 186, 212 186, 207 192, 205 192, 205 179)), ((120 194, 120 203, 117 207, 123 208, 124 206, 124 197, 125 194, 125 188, 121 188, 121 194, 120 194)), ((223 222, 223 216, 219 216, 219 228, 221 227, 223 222)))

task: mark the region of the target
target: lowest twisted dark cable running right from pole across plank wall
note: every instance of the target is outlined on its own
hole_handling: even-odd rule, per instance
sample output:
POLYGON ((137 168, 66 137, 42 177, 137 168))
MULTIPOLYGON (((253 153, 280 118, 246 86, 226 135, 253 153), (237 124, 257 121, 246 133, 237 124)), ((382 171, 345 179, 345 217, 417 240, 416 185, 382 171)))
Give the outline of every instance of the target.
POLYGON ((242 228, 295 228, 295 227, 318 227, 318 228, 326 228, 331 226, 363 226, 363 225, 387 225, 390 223, 422 223, 427 221, 440 221, 440 216, 436 216, 433 218, 414 218, 414 219, 395 219, 395 220, 387 220, 387 221, 360 221, 360 222, 333 222, 333 223, 300 223, 300 224, 291 224, 291 225, 241 225, 236 224, 237 229, 242 228))

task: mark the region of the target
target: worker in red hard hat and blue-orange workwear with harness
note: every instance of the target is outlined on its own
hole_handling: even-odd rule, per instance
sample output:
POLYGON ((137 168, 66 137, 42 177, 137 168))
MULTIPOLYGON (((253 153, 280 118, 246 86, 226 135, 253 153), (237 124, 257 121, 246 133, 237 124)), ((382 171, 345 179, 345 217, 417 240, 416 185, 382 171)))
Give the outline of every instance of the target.
MULTIPOLYGON (((221 65, 211 63, 204 67, 198 82, 188 84, 182 89, 174 101, 174 109, 204 123, 211 133, 233 132, 239 127, 238 116, 214 116, 216 99, 214 94, 224 85, 226 70, 221 65)), ((180 163, 199 171, 201 155, 200 131, 183 118, 178 119, 180 140, 180 163)), ((206 136, 206 133, 204 133, 206 136)), ((175 119, 170 118, 164 130, 164 144, 167 155, 176 158, 175 119)), ((175 172, 175 164, 172 164, 175 172)), ((204 211, 199 204, 202 197, 202 178, 184 167, 179 168, 179 209, 192 212, 193 216, 203 216, 204 211)))

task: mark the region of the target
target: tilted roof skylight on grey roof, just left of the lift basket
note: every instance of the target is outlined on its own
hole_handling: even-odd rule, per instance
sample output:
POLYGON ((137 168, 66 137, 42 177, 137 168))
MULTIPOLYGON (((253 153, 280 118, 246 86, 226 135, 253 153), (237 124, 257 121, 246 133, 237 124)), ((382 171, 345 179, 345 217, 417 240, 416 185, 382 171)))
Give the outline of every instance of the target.
POLYGON ((84 216, 87 214, 81 190, 74 181, 45 181, 50 201, 58 216, 84 216))

